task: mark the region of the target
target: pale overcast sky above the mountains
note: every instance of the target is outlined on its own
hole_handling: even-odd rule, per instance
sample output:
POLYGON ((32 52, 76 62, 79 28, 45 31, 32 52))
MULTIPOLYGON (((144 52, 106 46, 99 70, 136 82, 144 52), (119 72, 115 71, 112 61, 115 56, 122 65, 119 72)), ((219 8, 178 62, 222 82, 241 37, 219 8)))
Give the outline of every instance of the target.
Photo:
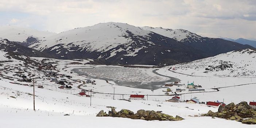
POLYGON ((103 22, 256 40, 256 0, 0 0, 0 25, 62 32, 103 22))

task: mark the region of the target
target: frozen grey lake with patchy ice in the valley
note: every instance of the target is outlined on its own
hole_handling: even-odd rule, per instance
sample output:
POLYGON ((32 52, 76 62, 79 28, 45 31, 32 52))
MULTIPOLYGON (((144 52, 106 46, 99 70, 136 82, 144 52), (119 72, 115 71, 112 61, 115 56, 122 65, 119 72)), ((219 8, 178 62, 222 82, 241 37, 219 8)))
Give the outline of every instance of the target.
POLYGON ((177 78, 157 74, 158 69, 131 68, 131 67, 96 67, 73 69, 80 75, 88 75, 95 79, 114 81, 121 86, 141 89, 159 89, 167 82, 179 81, 177 78))

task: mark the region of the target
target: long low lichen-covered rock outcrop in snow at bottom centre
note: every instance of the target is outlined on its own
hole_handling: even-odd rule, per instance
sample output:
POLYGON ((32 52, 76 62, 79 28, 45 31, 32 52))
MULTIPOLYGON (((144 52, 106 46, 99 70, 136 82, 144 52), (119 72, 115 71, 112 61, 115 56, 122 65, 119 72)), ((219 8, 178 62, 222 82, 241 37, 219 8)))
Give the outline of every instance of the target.
MULTIPOLYGON (((112 117, 123 117, 123 118, 130 118, 130 119, 140 119, 140 120, 160 120, 160 121, 179 121, 183 120, 180 116, 170 116, 164 114, 160 111, 155 112, 154 110, 138 110, 137 113, 133 113, 131 110, 122 109, 119 112, 116 112, 114 107, 111 107, 111 111, 108 112, 109 114, 106 116, 112 117)), ((101 110, 96 116, 104 116, 104 111, 101 110)))

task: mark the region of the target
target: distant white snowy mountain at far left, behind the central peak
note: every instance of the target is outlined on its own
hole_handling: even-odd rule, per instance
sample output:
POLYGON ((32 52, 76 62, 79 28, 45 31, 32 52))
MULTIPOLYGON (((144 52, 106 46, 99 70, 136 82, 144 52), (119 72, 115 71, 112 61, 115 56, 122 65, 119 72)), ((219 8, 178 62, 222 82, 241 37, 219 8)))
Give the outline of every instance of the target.
POLYGON ((0 39, 8 39, 13 42, 20 42, 24 46, 29 46, 33 43, 44 40, 44 38, 56 33, 38 31, 17 26, 1 26, 0 39))

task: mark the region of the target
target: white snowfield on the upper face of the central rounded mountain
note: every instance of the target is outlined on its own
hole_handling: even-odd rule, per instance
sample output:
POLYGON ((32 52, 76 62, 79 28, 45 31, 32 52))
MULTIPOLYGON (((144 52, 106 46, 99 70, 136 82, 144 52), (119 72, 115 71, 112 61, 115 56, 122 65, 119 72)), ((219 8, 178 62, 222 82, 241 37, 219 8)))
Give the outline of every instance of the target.
MULTIPOLYGON (((94 26, 75 28, 73 30, 61 32, 59 34, 45 38, 43 43, 34 44, 34 49, 44 50, 56 44, 63 44, 64 48, 79 46, 87 51, 108 51, 120 44, 133 43, 130 34, 134 38, 149 39, 151 31, 142 30, 138 27, 124 23, 99 23, 94 26), (140 38, 143 37, 143 38, 140 38)), ((149 42, 155 45, 153 42, 149 42)))

